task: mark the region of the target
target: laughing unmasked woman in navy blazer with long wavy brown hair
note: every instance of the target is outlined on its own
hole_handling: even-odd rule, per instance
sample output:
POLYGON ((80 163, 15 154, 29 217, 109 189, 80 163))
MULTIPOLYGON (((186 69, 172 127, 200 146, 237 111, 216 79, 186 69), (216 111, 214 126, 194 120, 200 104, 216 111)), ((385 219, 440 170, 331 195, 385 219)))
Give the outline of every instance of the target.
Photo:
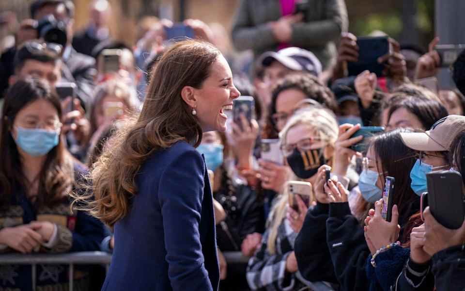
POLYGON ((219 50, 201 41, 167 49, 151 80, 138 119, 94 164, 95 200, 83 207, 115 230, 103 290, 217 290, 213 198, 195 147, 202 132, 226 130, 223 110, 240 93, 219 50))

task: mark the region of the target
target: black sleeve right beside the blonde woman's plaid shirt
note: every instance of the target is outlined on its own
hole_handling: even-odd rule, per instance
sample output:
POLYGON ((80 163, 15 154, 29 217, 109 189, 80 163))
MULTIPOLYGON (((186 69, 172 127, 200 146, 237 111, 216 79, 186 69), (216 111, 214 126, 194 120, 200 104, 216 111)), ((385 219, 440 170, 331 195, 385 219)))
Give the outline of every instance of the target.
POLYGON ((300 274, 310 282, 338 283, 326 243, 326 220, 329 204, 317 203, 310 208, 297 238, 294 252, 300 274))

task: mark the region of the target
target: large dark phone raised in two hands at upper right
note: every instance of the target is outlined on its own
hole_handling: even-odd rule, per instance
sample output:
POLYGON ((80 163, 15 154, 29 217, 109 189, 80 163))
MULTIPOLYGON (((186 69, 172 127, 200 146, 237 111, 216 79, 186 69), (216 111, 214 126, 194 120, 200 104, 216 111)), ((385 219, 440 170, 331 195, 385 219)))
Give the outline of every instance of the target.
POLYGON ((387 37, 358 37, 358 62, 348 62, 347 71, 349 76, 357 76, 365 70, 375 73, 376 76, 383 75, 384 64, 378 63, 378 58, 389 53, 390 44, 387 37))

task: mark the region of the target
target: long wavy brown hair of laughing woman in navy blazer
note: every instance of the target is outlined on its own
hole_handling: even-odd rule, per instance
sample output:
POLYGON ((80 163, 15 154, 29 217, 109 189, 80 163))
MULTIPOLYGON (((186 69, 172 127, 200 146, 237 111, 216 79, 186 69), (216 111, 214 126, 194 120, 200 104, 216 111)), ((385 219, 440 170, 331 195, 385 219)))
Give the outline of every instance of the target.
POLYGON ((127 122, 110 139, 90 171, 92 188, 73 194, 74 204, 110 227, 124 218, 137 194, 135 177, 155 151, 178 141, 198 146, 202 128, 181 97, 185 86, 201 88, 211 65, 221 53, 209 43, 186 40, 163 53, 150 78, 139 116, 127 122))

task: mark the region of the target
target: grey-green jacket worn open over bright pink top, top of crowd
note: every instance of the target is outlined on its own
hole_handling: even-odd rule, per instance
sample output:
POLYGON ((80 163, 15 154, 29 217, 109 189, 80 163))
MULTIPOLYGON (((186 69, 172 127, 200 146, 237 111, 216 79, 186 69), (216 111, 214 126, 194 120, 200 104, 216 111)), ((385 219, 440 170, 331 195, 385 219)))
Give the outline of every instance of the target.
MULTIPOLYGON (((335 42, 347 31, 348 18, 344 0, 308 0, 311 9, 306 21, 293 24, 290 46, 313 52, 326 69, 335 62, 335 42)), ((252 49, 255 57, 276 51, 279 42, 267 25, 281 17, 279 0, 241 0, 236 11, 232 38, 236 49, 252 49)))

